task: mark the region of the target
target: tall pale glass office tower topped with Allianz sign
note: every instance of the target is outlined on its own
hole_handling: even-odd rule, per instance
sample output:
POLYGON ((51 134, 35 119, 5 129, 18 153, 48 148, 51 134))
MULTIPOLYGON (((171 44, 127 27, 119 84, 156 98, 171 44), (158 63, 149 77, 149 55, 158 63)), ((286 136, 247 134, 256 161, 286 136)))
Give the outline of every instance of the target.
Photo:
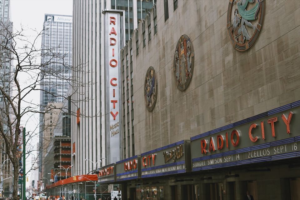
MULTIPOLYGON (((69 83, 66 79, 71 76, 70 66, 72 65, 72 16, 45 14, 44 30, 42 34, 42 48, 52 50, 55 53, 63 53, 64 58, 52 58, 48 56, 49 51, 42 52, 41 63, 51 63, 47 65, 45 71, 53 70, 54 73, 45 73, 41 80, 40 109, 44 110, 47 105, 62 105, 63 100, 68 96, 69 83), (61 63, 64 63, 61 64, 61 63), (47 92, 45 92, 47 91, 47 92)), ((43 69, 42 69, 43 70, 43 69)), ((40 138, 39 138, 39 172, 42 177, 43 157, 45 149, 53 133, 54 120, 51 120, 51 112, 40 114, 40 138), (48 117, 46 115, 49 115, 48 117), (46 118, 47 117, 47 118, 46 118), (47 123, 45 126, 45 121, 47 123), (49 134, 44 134, 44 132, 49 134), (47 142, 46 142, 47 141, 47 142), (44 151, 44 152, 43 152, 44 151)))

